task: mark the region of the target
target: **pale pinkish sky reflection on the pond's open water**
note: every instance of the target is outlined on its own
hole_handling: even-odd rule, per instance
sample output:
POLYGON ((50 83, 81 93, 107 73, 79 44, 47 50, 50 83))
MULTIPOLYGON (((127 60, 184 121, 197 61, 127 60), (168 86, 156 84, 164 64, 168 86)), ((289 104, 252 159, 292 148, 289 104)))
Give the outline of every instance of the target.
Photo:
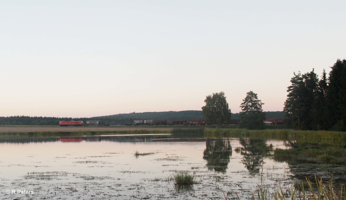
MULTIPOLYGON (((117 139, 96 136, 83 137, 82 141, 75 140, 79 142, 62 142, 56 138, 50 139, 50 142, 30 142, 29 139, 26 143, 0 143, 1 192, 15 187, 13 182, 23 182, 24 188, 31 187, 28 185, 32 182, 61 183, 62 185, 66 182, 75 182, 76 185, 85 184, 84 182, 88 184, 106 182, 108 185, 122 184, 124 188, 121 188, 118 193, 124 192, 122 194, 124 196, 130 195, 128 191, 125 191, 126 187, 139 184, 146 188, 139 190, 136 193, 138 195, 149 193, 149 196, 154 196, 162 193, 170 197, 170 193, 174 191, 173 183, 152 180, 164 180, 175 171, 189 171, 195 173, 200 182, 194 185, 192 193, 196 196, 206 194, 208 197, 213 195, 215 197, 212 193, 216 192, 218 197, 223 197, 222 191, 234 190, 238 195, 244 193, 243 189, 250 189, 248 192, 253 192, 257 183, 261 181, 260 173, 251 175, 244 165, 243 155, 234 151, 236 147, 243 147, 239 139, 228 140, 227 145, 230 145, 232 152, 228 153, 230 156, 226 159, 229 162, 226 163, 225 172, 219 173, 213 168, 208 169, 206 166, 208 161, 203 159, 206 139, 166 138, 166 136, 155 137, 153 140, 155 142, 151 142, 150 137, 117 139), (135 158, 135 151, 154 154, 135 158), (91 181, 79 178, 81 175, 67 175, 61 180, 50 181, 23 178, 28 175, 28 172, 54 171, 107 178, 91 181), (162 188, 162 191, 157 192, 158 188, 162 188)), ((275 142, 275 145, 283 145, 283 141, 275 142)), ((278 185, 287 178, 287 175, 291 175, 286 163, 277 163, 267 158, 263 158, 263 162, 265 183, 278 185)), ((136 187, 140 188, 140 186, 136 187)), ((43 195, 47 189, 43 187, 41 190, 40 193, 43 195)), ((174 198, 182 197, 178 195, 174 198)))

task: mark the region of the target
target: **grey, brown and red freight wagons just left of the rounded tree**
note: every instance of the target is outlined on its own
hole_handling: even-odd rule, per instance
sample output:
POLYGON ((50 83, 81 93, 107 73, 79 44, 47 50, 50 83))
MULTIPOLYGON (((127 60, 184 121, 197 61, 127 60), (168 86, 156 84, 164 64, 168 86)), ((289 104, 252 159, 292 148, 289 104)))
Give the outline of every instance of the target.
POLYGON ((170 124, 167 124, 167 120, 134 120, 133 125, 205 125, 205 120, 190 120, 190 123, 187 123, 186 120, 171 120, 170 124))

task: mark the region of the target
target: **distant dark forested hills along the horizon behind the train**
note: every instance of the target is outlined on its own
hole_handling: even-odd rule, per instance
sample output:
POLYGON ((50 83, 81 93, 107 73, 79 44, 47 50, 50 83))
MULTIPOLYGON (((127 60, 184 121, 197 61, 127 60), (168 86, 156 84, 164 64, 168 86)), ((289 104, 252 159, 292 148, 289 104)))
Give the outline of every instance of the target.
MULTIPOLYGON (((285 118, 285 113, 281 111, 264 112, 267 118, 285 118)), ((202 111, 167 111, 167 112, 145 112, 116 114, 90 118, 71 117, 29 117, 10 116, 0 117, 0 125, 58 125, 59 121, 83 121, 101 120, 102 124, 132 124, 134 120, 204 120, 202 111)), ((239 113, 232 113, 231 119, 239 119, 239 113)))

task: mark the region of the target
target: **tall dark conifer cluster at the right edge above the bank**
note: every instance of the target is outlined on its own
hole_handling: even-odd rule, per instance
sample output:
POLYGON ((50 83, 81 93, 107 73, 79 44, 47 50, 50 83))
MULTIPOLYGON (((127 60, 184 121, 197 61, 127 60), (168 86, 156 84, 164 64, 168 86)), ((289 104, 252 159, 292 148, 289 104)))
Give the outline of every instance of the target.
POLYGON ((289 125, 302 130, 346 131, 346 60, 338 59, 329 77, 323 70, 295 74, 288 87, 284 112, 289 125))

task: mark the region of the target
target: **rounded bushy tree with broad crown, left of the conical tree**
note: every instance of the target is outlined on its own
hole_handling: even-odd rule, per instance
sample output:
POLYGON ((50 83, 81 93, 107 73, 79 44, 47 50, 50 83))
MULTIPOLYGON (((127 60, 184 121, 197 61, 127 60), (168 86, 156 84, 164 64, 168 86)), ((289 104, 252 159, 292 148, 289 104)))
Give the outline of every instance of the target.
POLYGON ((231 109, 228 108, 224 92, 208 95, 204 102, 206 105, 202 107, 202 111, 207 124, 229 124, 231 109))

